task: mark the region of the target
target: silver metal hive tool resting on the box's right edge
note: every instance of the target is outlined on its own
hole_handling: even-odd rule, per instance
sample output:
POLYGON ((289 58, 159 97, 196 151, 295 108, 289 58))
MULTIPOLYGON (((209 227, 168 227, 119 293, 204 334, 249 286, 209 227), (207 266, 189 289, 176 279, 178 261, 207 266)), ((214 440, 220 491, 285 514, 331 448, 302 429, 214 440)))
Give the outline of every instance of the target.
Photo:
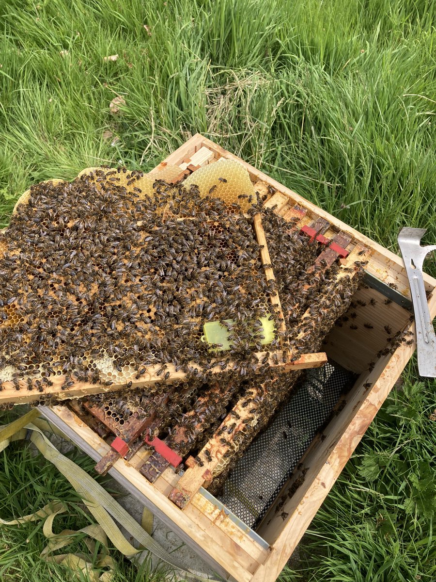
POLYGON ((421 247, 420 240, 425 228, 403 228, 398 235, 398 244, 409 278, 416 324, 416 349, 418 371, 421 376, 436 378, 436 336, 424 288, 423 262, 427 253, 436 250, 436 244, 421 247))

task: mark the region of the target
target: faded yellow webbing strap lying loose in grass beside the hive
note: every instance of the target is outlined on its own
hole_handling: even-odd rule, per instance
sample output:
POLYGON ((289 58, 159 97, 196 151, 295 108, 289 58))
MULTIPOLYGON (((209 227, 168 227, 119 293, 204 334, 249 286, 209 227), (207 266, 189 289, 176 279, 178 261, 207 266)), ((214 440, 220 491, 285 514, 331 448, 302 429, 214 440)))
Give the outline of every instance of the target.
MULTIPOLYGON (((180 570, 188 579, 211 580, 202 578, 198 576, 198 574, 190 572, 189 570, 185 570, 184 566, 181 565, 178 560, 174 559, 173 556, 170 556, 158 542, 153 540, 151 535, 149 535, 152 530, 151 512, 144 512, 144 515, 142 516, 144 528, 142 528, 140 524, 138 524, 137 521, 135 521, 133 517, 131 517, 131 515, 127 513, 127 511, 91 477, 91 475, 86 473, 86 471, 81 469, 81 467, 72 460, 62 455, 53 443, 45 437, 41 429, 32 423, 37 416, 38 410, 34 409, 29 413, 24 414, 24 416, 17 418, 13 423, 0 427, 0 451, 6 448, 6 446, 8 446, 13 440, 26 438, 28 431, 31 431, 30 440, 35 446, 37 446, 45 459, 53 463, 60 473, 65 475, 67 480, 83 499, 83 502, 92 516, 94 516, 98 525, 92 524, 91 526, 87 526, 78 531, 64 530, 60 534, 53 534, 53 520, 60 513, 67 511, 66 506, 62 502, 48 503, 44 508, 35 513, 21 517, 20 519, 12 521, 0 520, 0 524, 14 526, 24 523, 25 521, 45 519, 43 532, 49 542, 46 548, 41 552, 41 558, 56 563, 62 563, 63 565, 76 570, 81 569, 83 572, 87 573, 87 576, 92 581, 109 582, 112 579, 111 572, 104 572, 99 576, 97 570, 92 569, 90 560, 94 554, 95 541, 98 541, 103 548, 103 552, 97 556, 97 565, 99 567, 109 567, 110 570, 112 570, 113 563, 112 559, 108 556, 108 538, 124 556, 134 562, 138 561, 138 555, 143 551, 142 549, 134 548, 134 546, 126 540, 119 527, 112 519, 114 518, 121 526, 126 528, 135 540, 140 543, 141 548, 152 552, 153 555, 160 560, 163 560, 163 562, 166 562, 171 568, 180 570), (145 531, 146 529, 148 531, 145 531), (90 549, 90 555, 87 556, 73 553, 56 556, 52 555, 53 551, 69 545, 73 541, 74 536, 77 536, 78 533, 84 534, 84 540, 88 549, 90 549)), ((37 423, 40 424, 38 421, 37 423)))

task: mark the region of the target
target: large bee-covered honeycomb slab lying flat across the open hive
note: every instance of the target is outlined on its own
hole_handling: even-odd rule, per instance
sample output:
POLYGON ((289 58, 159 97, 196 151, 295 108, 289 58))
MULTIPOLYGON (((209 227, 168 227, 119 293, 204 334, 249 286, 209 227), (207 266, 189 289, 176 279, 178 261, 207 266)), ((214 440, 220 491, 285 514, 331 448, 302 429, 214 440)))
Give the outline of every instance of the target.
POLYGON ((165 381, 166 364, 196 377, 210 361, 202 321, 226 318, 235 325, 223 367, 253 359, 261 346, 249 330, 277 316, 251 218, 169 186, 162 176, 176 171, 87 169, 20 198, 0 240, 0 389, 12 381, 36 398, 53 384, 165 381))

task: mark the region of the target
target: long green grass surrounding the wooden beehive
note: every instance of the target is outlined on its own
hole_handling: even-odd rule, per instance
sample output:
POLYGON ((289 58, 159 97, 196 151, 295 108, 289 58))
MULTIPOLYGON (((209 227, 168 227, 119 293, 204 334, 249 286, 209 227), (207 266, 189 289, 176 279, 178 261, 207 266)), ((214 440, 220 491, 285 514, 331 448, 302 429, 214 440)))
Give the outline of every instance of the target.
MULTIPOLYGON (((8 0, 0 15, 0 226, 34 182, 149 169, 202 132, 389 249, 403 225, 436 240, 433 0, 8 0)), ((305 537, 304 577, 284 580, 436 579, 434 407, 409 365, 305 537)), ((49 579, 39 534, 0 533, 8 580, 49 579)))

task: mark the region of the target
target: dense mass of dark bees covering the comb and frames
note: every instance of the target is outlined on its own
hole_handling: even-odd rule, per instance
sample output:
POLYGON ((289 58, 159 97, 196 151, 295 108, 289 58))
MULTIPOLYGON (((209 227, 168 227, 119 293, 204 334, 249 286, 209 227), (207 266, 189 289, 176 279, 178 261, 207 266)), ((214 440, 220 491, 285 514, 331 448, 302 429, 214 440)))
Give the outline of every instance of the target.
MULTIPOLYGON (((195 184, 156 180, 151 196, 138 186, 142 173, 127 172, 99 169, 71 183, 37 184, 17 207, 0 240, 0 389, 12 379, 17 390, 44 392, 61 374, 65 391, 76 382, 125 382, 126 391, 85 400, 120 426, 132 416, 155 414, 159 436, 182 455, 195 455, 246 395, 246 430, 226 453, 235 459, 300 373, 277 375, 267 359, 259 369, 254 353, 319 350, 349 307, 359 277, 338 282, 338 265, 322 263, 309 274, 317 243, 265 208, 258 195, 245 212, 213 190, 201 195, 195 184), (118 184, 120 173, 127 186, 118 184), (253 230, 258 213, 275 281, 266 279, 268 265, 260 258, 253 230), (278 331, 270 302, 277 291, 286 331, 278 331), (274 320, 267 346, 253 336, 260 317, 274 320), (223 320, 234 322, 227 351, 201 339, 205 322, 223 320), (211 378, 216 359, 223 370, 230 361, 233 368, 211 378), (128 389, 129 378, 141 379, 156 364, 161 381, 128 389), (187 374, 183 383, 166 383, 169 364, 187 374)), ((240 198, 246 210, 248 196, 240 198)), ((220 438, 231 441, 233 428, 221 427, 220 438)))

